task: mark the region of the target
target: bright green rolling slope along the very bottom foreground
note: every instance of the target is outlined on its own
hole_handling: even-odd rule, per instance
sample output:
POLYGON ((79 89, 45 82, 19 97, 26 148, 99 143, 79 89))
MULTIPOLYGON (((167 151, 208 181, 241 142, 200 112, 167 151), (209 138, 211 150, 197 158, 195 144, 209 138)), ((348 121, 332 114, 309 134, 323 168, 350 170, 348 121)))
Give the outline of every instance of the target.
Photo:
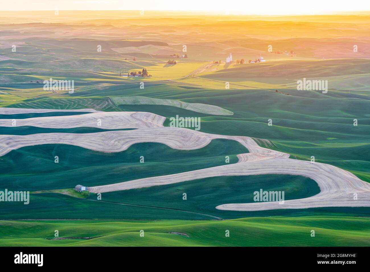
POLYGON ((369 246, 370 219, 269 217, 225 221, 0 221, 1 246, 369 246), (50 241, 60 237, 90 240, 50 241), (144 231, 140 237, 139 231, 144 231), (229 230, 230 236, 225 237, 229 230), (315 236, 311 237, 311 230, 315 236), (181 232, 189 237, 169 234, 181 232))

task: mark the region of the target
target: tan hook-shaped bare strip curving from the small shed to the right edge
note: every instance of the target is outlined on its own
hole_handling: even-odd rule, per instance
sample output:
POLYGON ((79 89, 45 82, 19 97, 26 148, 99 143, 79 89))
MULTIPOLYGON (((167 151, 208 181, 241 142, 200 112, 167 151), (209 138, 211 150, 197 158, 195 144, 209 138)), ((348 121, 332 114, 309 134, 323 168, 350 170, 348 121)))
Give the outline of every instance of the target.
MULTIPOLYGON (((314 179, 320 187, 320 193, 303 199, 279 202, 255 202, 222 204, 216 209, 230 211, 262 211, 271 209, 306 209, 317 207, 357 207, 370 206, 370 184, 343 169, 329 164, 299 161, 285 157, 269 157, 268 154, 243 154, 243 162, 199 169, 161 177, 136 179, 116 184, 89 187, 91 192, 111 192, 133 188, 173 184, 182 181, 219 176, 290 174, 302 175, 314 179), (354 200, 357 194, 357 200, 354 200)), ((252 199, 250 199, 252 200, 252 199)))

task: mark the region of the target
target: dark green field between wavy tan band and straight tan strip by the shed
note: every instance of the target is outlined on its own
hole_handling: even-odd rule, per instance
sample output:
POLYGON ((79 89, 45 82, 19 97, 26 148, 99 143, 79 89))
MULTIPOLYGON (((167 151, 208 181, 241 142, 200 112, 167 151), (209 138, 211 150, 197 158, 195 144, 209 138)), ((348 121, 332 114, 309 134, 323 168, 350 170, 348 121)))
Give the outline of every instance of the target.
POLYGON ((226 139, 212 140, 196 150, 175 150, 154 142, 112 153, 64 144, 22 147, 0 157, 0 188, 36 191, 112 184, 225 165, 226 155, 235 163, 240 153, 248 150, 226 139), (140 156, 144 156, 144 163, 139 162, 140 156))

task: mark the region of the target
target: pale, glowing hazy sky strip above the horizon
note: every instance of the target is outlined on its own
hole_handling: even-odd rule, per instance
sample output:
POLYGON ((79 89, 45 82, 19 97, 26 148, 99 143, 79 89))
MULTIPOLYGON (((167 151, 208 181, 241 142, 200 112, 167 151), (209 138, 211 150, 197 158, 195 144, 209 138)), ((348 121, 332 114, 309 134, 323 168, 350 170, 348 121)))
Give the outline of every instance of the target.
POLYGON ((370 0, 3 0, 0 10, 198 10, 227 14, 369 11, 370 0))

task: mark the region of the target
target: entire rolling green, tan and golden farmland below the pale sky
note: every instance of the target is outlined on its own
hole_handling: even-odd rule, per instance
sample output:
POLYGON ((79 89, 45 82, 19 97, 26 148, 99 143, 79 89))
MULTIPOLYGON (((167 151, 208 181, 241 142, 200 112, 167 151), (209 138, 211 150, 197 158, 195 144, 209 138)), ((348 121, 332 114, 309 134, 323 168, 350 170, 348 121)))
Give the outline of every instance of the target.
POLYGON ((145 14, 0 11, 0 246, 369 246, 369 14, 145 14))

